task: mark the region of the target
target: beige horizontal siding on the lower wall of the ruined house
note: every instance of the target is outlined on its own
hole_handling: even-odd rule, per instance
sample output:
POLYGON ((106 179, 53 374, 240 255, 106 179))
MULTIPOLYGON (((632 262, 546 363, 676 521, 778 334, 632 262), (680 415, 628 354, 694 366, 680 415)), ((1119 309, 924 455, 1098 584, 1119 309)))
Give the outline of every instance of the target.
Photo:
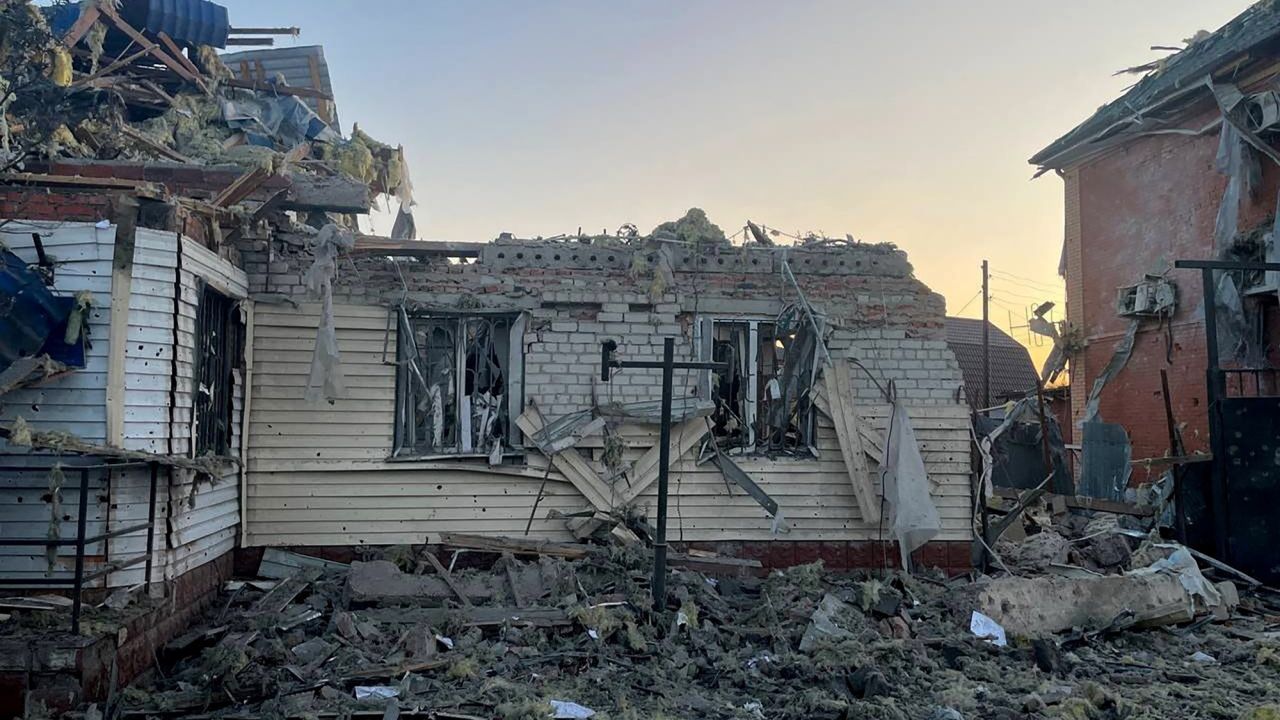
MULTIPOLYGON (((250 413, 246 542, 252 546, 388 544, 433 541, 442 532, 524 534, 538 497, 541 459, 530 468, 495 473, 483 464, 460 469, 443 462, 387 462, 392 452, 394 333, 388 309, 338 305, 338 343, 346 397, 330 404, 303 400, 319 307, 265 305, 255 309, 253 380, 250 413)), ((530 338, 530 346, 539 341, 530 338)), ((531 350, 536 350, 531 347, 531 350)), ((595 355, 598 361, 598 355, 595 355)), ((585 361, 584 361, 585 363, 585 361)), ((526 374, 529 395, 538 379, 526 374)), ((887 405, 861 411, 883 429, 887 405)), ((938 539, 970 537, 968 414, 955 404, 909 406, 943 519, 938 539)), ((626 428, 628 452, 652 446, 654 428, 626 428)), ((585 442, 581 450, 598 450, 585 442)), ((783 532, 746 495, 726 488, 719 471, 681 459, 671 474, 671 537, 718 539, 874 539, 878 529, 859 519, 835 430, 822 423, 815 460, 742 459, 740 465, 780 503, 783 532)), ((690 454, 694 455, 694 454, 690 454)), ((640 503, 654 505, 654 491, 640 503)), ((584 510, 584 498, 550 475, 530 534, 568 539, 552 510, 584 510)))

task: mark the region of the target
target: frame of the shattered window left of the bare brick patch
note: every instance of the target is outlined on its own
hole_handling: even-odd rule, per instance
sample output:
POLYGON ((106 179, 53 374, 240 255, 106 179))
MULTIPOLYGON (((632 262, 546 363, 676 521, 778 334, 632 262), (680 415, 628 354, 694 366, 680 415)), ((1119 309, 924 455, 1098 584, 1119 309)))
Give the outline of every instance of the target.
MULTIPOLYGON (((466 382, 467 382, 467 347, 466 347, 466 323, 471 320, 486 320, 494 322, 506 319, 506 332, 508 337, 507 357, 502 368, 503 373, 503 396, 500 401, 500 407, 506 413, 506 433, 502 438, 503 448, 502 455, 520 455, 524 452, 522 436, 520 429, 516 428, 516 418, 524 413, 525 397, 525 333, 529 325, 527 313, 518 310, 471 310, 471 311, 436 311, 436 310, 406 310, 404 307, 396 307, 392 310, 394 314, 394 332, 396 332, 396 360, 392 363, 396 365, 396 410, 393 418, 393 439, 392 448, 388 460, 392 461, 413 461, 413 460, 431 460, 431 459, 475 459, 475 457, 489 457, 490 454, 484 450, 477 450, 471 447, 472 438, 470 433, 463 433, 463 428, 470 424, 470 415, 466 416, 463 421, 463 409, 468 405, 462 402, 462 397, 470 397, 466 395, 466 382), (416 359, 421 357, 421 352, 415 354, 413 350, 417 347, 415 329, 416 323, 420 322, 439 322, 445 320, 453 324, 454 341, 453 359, 451 364, 451 374, 453 383, 453 428, 457 433, 457 438, 448 445, 448 447, 424 447, 421 445, 408 445, 407 441, 407 428, 408 423, 416 421, 416 418, 407 415, 408 405, 411 398, 416 397, 412 389, 412 382, 415 373, 420 373, 417 364, 411 364, 408 357, 411 355, 416 359), (406 342, 406 337, 411 342, 406 342), (411 355, 406 355, 406 352, 411 355)), ((388 328, 390 331, 390 328, 388 328)), ((417 375, 420 377, 420 375, 417 375)), ((425 379, 422 380, 425 383, 425 379)))

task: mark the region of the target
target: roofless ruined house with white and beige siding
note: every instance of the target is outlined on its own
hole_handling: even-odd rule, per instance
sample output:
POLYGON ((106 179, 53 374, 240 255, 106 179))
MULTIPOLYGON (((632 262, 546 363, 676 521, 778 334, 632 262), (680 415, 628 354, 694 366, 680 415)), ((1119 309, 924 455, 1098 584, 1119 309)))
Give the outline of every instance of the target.
POLYGON ((686 561, 969 566, 961 372, 904 251, 733 245, 700 210, 411 240, 403 151, 339 135, 320 49, 224 63, 246 38, 196 5, 4 8, 0 582, 68 591, 76 648, 46 666, 4 638, 5 688, 67 705, 136 676, 237 551, 652 541, 662 372, 625 365, 667 340, 717 364, 672 383, 686 561), (357 229, 379 197, 394 237, 357 229))

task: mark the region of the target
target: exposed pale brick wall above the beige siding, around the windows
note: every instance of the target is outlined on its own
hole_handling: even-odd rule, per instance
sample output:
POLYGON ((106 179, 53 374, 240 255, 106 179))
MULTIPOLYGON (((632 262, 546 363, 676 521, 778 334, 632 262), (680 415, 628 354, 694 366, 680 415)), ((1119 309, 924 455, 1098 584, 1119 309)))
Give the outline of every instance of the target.
MULTIPOLYGON (((306 295, 302 277, 312 256, 303 238, 243 241, 239 249, 252 292, 306 295)), ((529 313, 526 395, 548 415, 559 415, 594 405, 604 338, 618 342, 622 359, 657 360, 663 338, 675 337, 677 357, 690 357, 698 316, 777 316, 796 297, 781 274, 783 256, 805 296, 835 327, 833 354, 859 359, 881 382, 895 380, 908 402, 956 402, 960 373, 945 342, 943 300, 911 275, 905 254, 892 246, 677 249, 671 252, 673 284, 653 295, 652 247, 506 241, 466 263, 343 259, 334 301, 392 305, 406 299, 428 310, 529 313), (632 270, 636 264, 640 270, 632 270)), ((858 382, 870 388, 865 374, 858 382)), ((595 400, 653 400, 659 383, 659 370, 628 369, 608 383, 607 397, 595 400)), ((676 383, 677 397, 691 395, 699 375, 677 373, 676 383)))

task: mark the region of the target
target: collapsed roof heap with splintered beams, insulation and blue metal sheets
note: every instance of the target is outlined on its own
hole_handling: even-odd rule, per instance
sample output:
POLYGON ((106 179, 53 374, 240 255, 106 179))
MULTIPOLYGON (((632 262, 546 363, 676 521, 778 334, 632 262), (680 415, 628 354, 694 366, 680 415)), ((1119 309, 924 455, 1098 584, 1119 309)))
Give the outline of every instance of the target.
MULTIPOLYGON (((374 196, 396 195, 402 210, 413 205, 402 147, 358 127, 339 135, 326 67, 308 69, 311 82, 298 86, 289 85, 297 79, 292 70, 264 72, 274 65, 261 60, 269 58, 262 51, 252 64, 256 73, 227 67, 214 46, 261 41, 228 40, 237 28, 225 8, 205 0, 164 8, 125 0, 119 9, 81 3, 41 10, 18 1, 0 8, 0 63, 10 95, 0 123, 0 173, 41 172, 68 160, 229 164, 261 169, 259 183, 289 174, 349 178, 374 196)), ((311 53, 302 61, 314 64, 317 56, 323 60, 311 53)), ((367 204, 355 211, 367 211, 367 204)))

